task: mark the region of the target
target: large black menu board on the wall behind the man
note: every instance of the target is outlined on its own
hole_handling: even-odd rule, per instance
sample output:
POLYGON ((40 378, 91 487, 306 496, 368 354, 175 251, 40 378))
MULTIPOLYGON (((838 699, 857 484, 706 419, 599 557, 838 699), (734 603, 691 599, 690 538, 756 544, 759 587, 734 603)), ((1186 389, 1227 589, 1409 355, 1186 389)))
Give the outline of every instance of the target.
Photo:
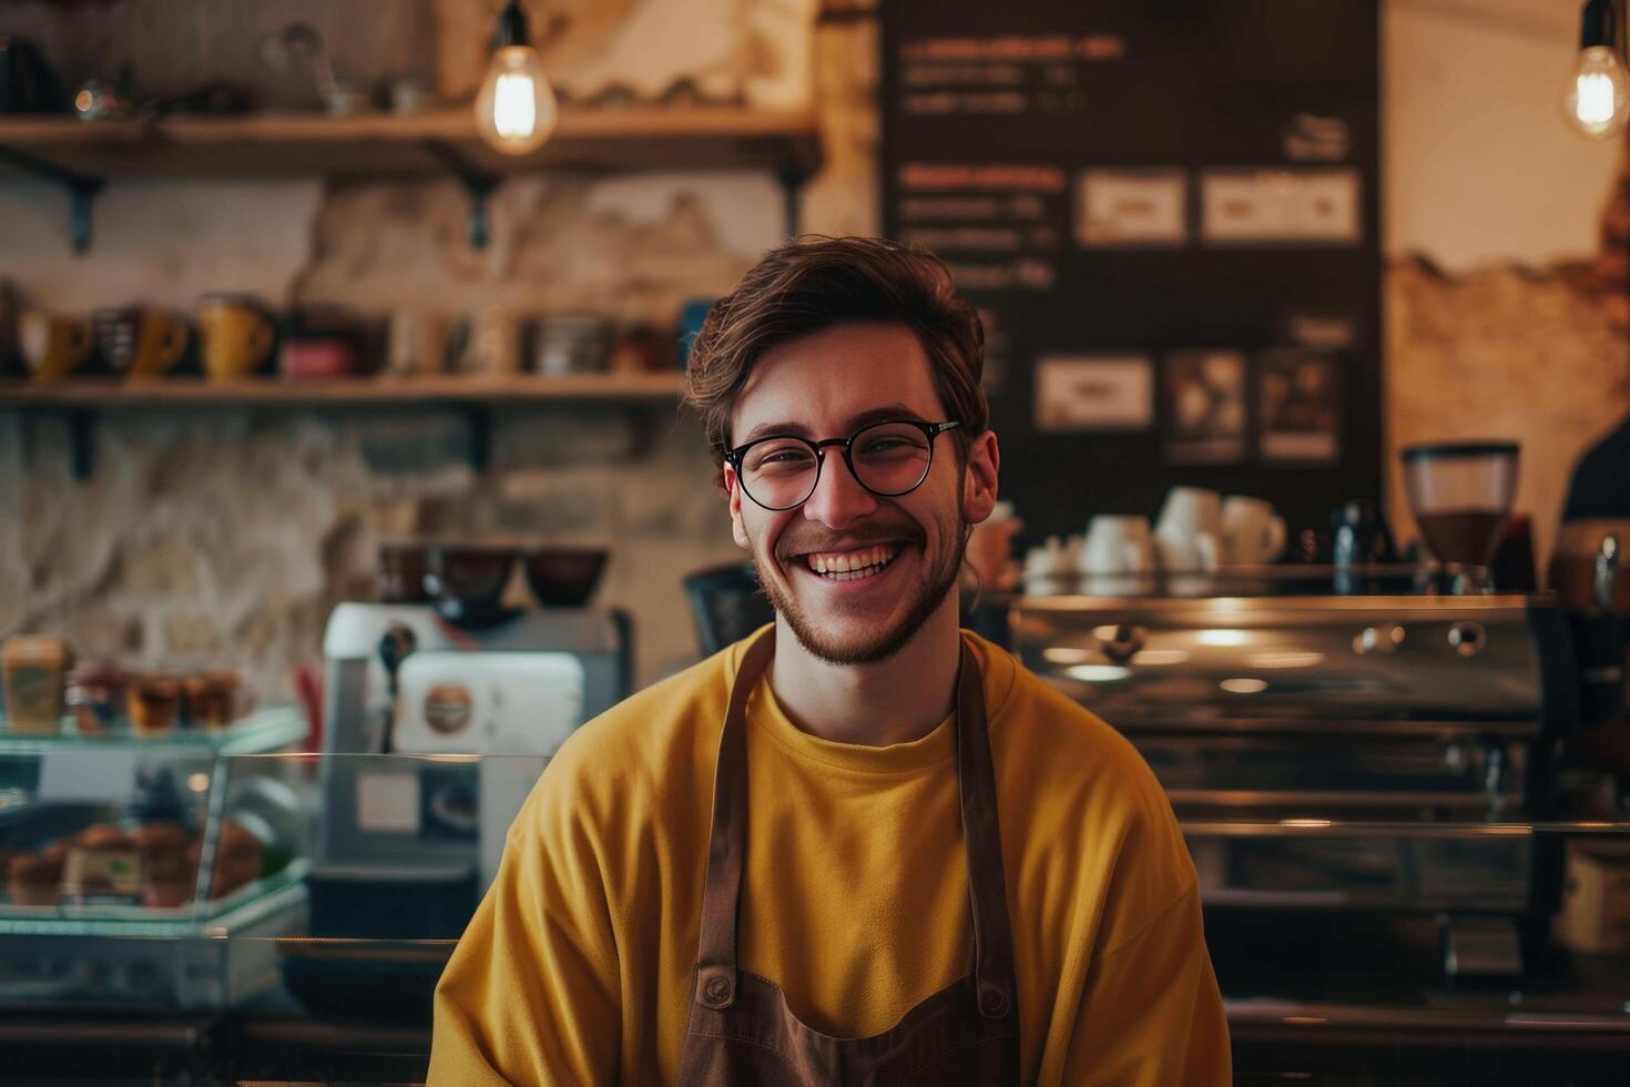
POLYGON ((986 326, 1027 538, 1381 497, 1374 0, 892 0, 888 236, 986 326))

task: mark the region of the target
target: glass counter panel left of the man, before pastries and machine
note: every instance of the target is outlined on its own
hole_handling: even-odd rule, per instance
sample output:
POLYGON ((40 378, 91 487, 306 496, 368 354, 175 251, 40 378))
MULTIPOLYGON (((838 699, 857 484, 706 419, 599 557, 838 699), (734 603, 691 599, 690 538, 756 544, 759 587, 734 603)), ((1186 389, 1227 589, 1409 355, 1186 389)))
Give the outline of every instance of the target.
POLYGON ((541 756, 289 750, 220 733, 0 733, 0 1009, 391 1010, 430 991, 541 756))

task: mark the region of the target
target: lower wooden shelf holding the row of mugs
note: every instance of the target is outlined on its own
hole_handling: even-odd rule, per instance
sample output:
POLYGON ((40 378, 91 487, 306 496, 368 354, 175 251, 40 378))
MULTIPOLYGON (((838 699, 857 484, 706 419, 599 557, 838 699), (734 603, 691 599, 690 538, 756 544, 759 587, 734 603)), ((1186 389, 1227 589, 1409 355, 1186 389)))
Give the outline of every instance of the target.
POLYGON ((112 411, 166 406, 346 407, 365 404, 487 404, 548 401, 678 401, 685 375, 584 375, 569 378, 425 376, 285 381, 244 378, 152 378, 147 381, 73 380, 51 385, 0 383, 0 407, 112 411))

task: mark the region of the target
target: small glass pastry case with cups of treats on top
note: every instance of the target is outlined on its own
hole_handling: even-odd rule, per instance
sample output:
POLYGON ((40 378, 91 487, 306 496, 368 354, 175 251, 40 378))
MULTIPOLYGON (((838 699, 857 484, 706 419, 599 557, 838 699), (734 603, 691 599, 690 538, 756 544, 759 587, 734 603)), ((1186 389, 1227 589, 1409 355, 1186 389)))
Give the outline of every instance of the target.
POLYGON ((228 670, 24 649, 0 715, 0 1004, 223 1007, 274 983, 272 942, 236 937, 306 927, 311 768, 253 756, 303 742, 303 714, 240 712, 228 670))

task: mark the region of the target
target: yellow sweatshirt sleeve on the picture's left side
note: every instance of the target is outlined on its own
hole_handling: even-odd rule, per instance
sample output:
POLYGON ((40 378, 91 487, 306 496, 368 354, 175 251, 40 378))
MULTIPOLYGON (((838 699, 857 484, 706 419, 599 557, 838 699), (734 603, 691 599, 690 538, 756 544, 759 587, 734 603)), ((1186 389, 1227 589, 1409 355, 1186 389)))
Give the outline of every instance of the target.
POLYGON ((603 865, 561 777, 546 771, 510 826, 497 878, 437 984, 430 1084, 616 1082, 621 996, 603 865))

